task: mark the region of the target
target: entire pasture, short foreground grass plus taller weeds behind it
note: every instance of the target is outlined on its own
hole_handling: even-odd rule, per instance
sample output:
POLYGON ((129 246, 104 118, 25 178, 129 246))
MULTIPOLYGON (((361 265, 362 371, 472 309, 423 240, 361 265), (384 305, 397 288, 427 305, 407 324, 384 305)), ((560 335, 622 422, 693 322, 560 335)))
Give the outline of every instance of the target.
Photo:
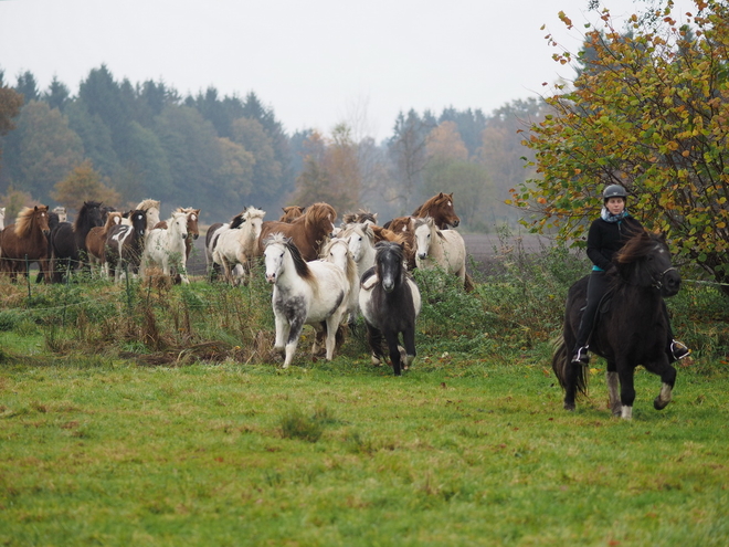
MULTIPOLYGON (((3 545, 708 545, 729 541, 726 298, 668 301, 674 400, 638 368, 612 418, 604 361, 573 412, 550 369, 564 250, 509 251, 465 293, 416 273, 418 358, 272 351, 271 287, 28 287, 0 280, 3 545)), ((477 270, 477 269, 474 269, 477 270)), ((361 319, 360 319, 361 322, 361 319)), ((361 323, 360 323, 361 324, 361 323)))

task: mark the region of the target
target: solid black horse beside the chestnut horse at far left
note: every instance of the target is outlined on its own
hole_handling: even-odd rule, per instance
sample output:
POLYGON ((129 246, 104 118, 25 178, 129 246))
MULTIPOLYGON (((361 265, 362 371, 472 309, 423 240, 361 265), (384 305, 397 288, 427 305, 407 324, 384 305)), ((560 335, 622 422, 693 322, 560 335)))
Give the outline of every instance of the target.
MULTIPOLYGON (((59 214, 59 219, 61 215, 59 214)), ((92 228, 102 227, 101 201, 84 201, 73 222, 60 222, 51 231, 53 282, 63 281, 66 273, 72 273, 87 262, 86 235, 92 228)))

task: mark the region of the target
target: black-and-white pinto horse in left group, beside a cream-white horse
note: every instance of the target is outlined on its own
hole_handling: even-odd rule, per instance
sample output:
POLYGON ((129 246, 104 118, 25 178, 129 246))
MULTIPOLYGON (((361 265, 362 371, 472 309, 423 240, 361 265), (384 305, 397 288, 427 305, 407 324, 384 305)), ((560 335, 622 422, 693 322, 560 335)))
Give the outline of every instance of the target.
POLYGON ((147 211, 137 209, 129 214, 131 225, 119 224, 113 227, 106 235, 104 255, 109 276, 116 283, 122 281, 124 266, 133 274, 139 271, 141 254, 145 249, 145 232, 147 231, 147 211))

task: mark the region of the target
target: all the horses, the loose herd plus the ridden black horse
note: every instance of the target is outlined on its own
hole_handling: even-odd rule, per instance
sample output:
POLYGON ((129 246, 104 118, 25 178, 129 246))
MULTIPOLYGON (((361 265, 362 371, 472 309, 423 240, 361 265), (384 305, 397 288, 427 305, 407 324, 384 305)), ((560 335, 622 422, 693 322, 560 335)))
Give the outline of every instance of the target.
MULTIPOLYGON (((24 208, 13 224, 0 231, 0 272, 15 281, 28 274, 29 264, 38 263, 39 280, 47 283, 67 280, 78 267, 120 282, 158 267, 163 276, 188 284, 186 264, 199 235, 199 209, 178 208, 160 221, 156 200, 144 200, 126 213, 86 201, 73 223, 65 221, 65 211, 24 208)), ((304 325, 319 334, 313 351, 324 340, 326 358, 332 359, 342 323, 361 315, 372 362, 389 357, 399 376, 416 355, 421 295, 411 271, 442 269, 457 276, 464 290, 473 287, 465 243, 454 230, 461 220, 452 193, 441 192, 413 214, 383 225, 377 223, 376 213, 359 211, 345 214, 337 227, 337 212, 323 202, 284 208, 277 220, 264 217, 264 211, 249 207, 229 222, 212 224, 205 235, 205 261, 211 280, 221 276, 236 285, 247 283, 252 262, 263 259, 265 278, 273 285, 274 350, 283 354, 284 368, 294 359, 304 325)), ((3 220, 0 208, 0 223, 3 220)), ((615 265, 590 349, 608 362, 612 412, 631 419, 638 365, 662 379, 654 407, 661 410, 672 399, 676 369, 664 347, 669 328, 664 298, 678 292, 680 276, 665 239, 647 231, 631 238, 616 254, 615 265)), ((552 358, 567 410, 574 410, 588 387, 589 371, 570 360, 585 291, 587 276, 569 291, 552 358)))

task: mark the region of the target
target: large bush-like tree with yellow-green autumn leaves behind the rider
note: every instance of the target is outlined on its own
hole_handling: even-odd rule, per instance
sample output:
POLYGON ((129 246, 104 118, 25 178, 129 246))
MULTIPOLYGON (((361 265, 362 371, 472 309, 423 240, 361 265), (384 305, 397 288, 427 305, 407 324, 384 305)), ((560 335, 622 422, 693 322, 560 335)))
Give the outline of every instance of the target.
MULTIPOLYGON (((593 54, 578 55, 584 66, 574 87, 557 86, 547 98, 553 112, 524 141, 540 178, 515 189, 513 202, 537 214, 527 221, 535 230, 580 238, 603 187, 623 185, 635 217, 727 283, 729 6, 696 0, 694 32, 676 24, 672 8, 668 1, 655 22, 633 15, 630 34, 603 12, 604 31, 585 35, 593 54)), ((573 57, 554 54, 561 64, 573 57)))

